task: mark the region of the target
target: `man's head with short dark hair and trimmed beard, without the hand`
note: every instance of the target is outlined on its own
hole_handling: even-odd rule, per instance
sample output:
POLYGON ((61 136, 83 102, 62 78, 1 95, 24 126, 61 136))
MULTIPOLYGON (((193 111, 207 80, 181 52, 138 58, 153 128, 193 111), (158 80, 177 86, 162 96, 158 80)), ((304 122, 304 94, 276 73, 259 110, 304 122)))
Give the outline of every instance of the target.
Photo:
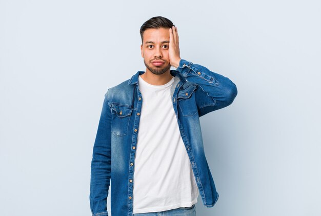
POLYGON ((147 70, 154 74, 163 74, 171 67, 168 48, 169 29, 172 26, 174 24, 168 18, 155 16, 148 19, 141 27, 142 57, 147 70))

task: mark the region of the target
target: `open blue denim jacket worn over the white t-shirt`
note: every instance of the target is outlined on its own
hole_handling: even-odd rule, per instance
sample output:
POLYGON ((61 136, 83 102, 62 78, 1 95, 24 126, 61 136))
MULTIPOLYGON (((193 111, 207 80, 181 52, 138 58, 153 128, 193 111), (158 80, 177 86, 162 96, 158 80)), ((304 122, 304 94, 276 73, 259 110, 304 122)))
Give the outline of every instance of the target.
MULTIPOLYGON (((144 72, 138 71, 105 94, 91 161, 89 198, 94 216, 108 215, 110 180, 111 214, 133 215, 135 148, 144 100, 138 88, 138 76, 144 72)), ((218 193, 205 158, 199 117, 230 105, 237 89, 229 78, 183 59, 170 73, 174 76, 173 108, 199 194, 205 207, 213 207, 218 193)))

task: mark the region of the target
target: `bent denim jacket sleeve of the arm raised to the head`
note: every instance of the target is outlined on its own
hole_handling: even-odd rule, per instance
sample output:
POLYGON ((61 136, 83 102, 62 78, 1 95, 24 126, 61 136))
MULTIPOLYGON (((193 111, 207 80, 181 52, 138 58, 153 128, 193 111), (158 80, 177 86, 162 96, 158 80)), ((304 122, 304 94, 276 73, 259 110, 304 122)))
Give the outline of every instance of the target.
POLYGON ((181 59, 176 70, 187 81, 197 84, 195 98, 199 117, 229 106, 237 95, 236 85, 228 77, 204 66, 181 59))

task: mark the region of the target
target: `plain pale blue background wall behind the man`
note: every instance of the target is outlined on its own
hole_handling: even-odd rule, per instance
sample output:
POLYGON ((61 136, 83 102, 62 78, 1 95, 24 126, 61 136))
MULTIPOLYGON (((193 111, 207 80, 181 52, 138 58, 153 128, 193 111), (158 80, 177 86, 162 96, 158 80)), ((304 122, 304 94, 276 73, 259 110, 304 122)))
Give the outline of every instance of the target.
POLYGON ((320 11, 320 1, 1 0, 0 214, 91 215, 104 94, 145 70, 139 28, 162 15, 182 58, 238 88, 200 118, 219 200, 198 197, 197 215, 320 215, 320 11))

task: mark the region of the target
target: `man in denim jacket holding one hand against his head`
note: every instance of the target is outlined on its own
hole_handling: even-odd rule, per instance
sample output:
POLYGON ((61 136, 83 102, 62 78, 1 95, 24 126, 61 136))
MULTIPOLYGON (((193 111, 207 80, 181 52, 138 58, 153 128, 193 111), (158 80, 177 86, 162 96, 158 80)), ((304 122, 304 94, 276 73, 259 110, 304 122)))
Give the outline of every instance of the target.
POLYGON ((230 105, 237 89, 229 78, 180 58, 169 19, 150 18, 141 37, 146 71, 105 94, 91 162, 92 215, 108 215, 111 180, 113 216, 192 216, 199 194, 205 207, 218 199, 199 117, 230 105))

